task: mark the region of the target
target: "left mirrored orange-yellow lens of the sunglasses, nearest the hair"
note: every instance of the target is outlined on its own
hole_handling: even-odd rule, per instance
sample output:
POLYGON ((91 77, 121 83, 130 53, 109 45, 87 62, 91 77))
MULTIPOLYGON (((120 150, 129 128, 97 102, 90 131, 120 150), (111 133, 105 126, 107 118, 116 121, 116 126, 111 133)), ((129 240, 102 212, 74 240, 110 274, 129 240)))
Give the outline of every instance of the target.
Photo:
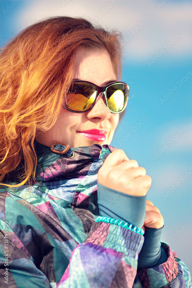
POLYGON ((86 111, 92 106, 96 94, 97 91, 93 85, 75 82, 66 96, 67 106, 73 111, 86 111))

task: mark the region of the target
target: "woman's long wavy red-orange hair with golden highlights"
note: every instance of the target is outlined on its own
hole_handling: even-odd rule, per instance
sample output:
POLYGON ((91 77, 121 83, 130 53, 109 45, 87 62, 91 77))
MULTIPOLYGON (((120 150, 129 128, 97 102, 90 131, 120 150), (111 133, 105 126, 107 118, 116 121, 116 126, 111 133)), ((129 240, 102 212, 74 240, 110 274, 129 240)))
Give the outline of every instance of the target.
POLYGON ((119 32, 94 28, 85 19, 54 17, 27 27, 1 49, 1 185, 18 187, 35 181, 36 131, 54 125, 72 81, 77 49, 105 48, 119 79, 120 39, 119 32), (18 183, 11 181, 14 170, 22 171, 18 183))

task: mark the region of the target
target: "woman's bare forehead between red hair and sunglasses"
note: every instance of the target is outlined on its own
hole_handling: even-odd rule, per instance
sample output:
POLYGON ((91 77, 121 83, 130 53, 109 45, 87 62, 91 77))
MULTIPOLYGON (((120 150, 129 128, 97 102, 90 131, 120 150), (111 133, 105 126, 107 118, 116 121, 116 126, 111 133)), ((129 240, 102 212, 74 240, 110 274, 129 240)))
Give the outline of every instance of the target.
POLYGON ((111 58, 105 49, 77 50, 74 79, 92 82, 98 86, 116 80, 111 58))

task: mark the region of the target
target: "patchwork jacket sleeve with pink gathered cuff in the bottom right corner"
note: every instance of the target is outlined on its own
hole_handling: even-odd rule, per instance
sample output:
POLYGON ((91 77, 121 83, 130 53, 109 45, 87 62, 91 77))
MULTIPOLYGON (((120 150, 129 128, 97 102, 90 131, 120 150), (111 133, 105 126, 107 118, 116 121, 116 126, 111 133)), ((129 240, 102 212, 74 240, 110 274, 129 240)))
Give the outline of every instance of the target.
POLYGON ((161 242, 161 247, 168 255, 167 261, 148 269, 138 269, 133 288, 138 287, 138 283, 145 288, 191 288, 191 276, 183 261, 174 257, 166 243, 161 242))

